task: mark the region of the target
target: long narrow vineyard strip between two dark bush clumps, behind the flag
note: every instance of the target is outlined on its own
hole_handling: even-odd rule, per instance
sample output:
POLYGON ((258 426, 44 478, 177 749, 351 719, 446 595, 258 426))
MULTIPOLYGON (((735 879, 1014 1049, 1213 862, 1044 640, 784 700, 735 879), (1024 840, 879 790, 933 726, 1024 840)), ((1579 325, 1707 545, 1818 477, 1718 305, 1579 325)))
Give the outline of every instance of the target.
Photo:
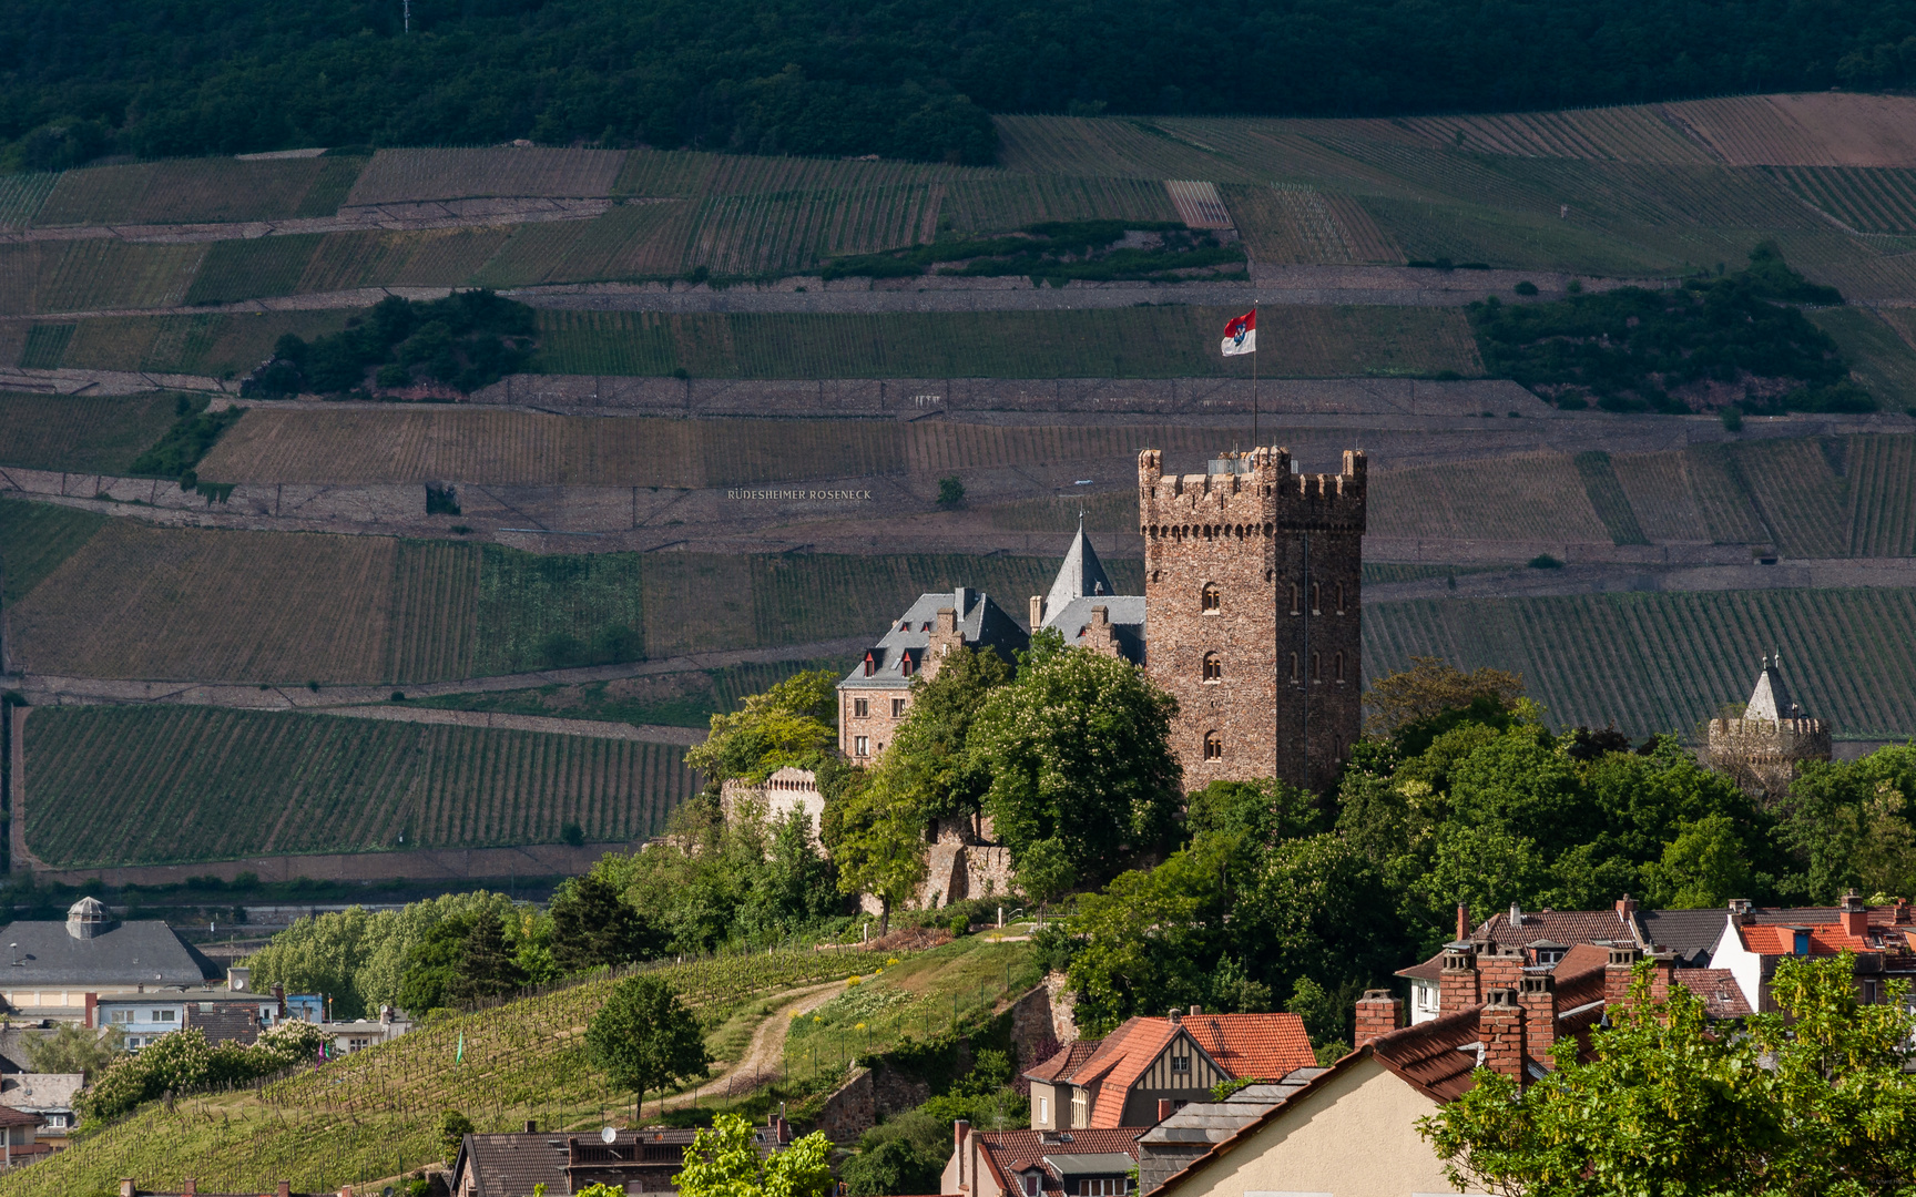
MULTIPOLYGON (((540 312, 536 370, 694 377, 1219 377, 1203 306, 878 316, 540 312)), ((1272 306, 1266 377, 1483 372, 1454 308, 1272 306)))

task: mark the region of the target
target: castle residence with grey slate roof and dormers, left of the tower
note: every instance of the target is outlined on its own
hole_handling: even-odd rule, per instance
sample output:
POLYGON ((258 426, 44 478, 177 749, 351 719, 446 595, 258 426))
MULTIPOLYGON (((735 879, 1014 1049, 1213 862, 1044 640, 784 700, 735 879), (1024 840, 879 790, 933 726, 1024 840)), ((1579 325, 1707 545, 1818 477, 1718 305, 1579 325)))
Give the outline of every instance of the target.
POLYGON ((1029 644, 1031 636, 989 594, 964 586, 920 594, 837 684, 839 751, 855 764, 883 753, 910 709, 912 678, 935 678, 954 645, 992 649, 1015 665, 1029 644))

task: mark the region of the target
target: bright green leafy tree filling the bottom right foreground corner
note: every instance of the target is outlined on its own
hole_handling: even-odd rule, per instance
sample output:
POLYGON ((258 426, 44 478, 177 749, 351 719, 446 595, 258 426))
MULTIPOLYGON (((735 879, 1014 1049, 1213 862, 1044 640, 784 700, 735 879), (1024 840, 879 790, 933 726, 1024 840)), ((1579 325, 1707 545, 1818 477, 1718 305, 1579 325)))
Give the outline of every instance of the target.
POLYGON ((1556 1069, 1527 1092, 1477 1069, 1475 1086, 1418 1128, 1458 1189, 1525 1197, 1903 1195, 1916 1174, 1916 1017, 1893 984, 1859 1005, 1855 958, 1778 961, 1778 1013, 1745 1034, 1705 1019, 1673 986, 1631 1000, 1590 1034, 1558 1040, 1556 1069))

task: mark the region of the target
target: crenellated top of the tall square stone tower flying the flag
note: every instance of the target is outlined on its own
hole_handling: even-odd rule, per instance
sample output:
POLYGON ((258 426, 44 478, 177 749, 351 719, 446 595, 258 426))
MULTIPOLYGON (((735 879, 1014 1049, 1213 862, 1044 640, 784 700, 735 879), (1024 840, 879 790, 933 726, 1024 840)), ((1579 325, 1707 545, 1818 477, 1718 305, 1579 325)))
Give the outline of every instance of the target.
POLYGON ((1288 448, 1253 448, 1209 473, 1167 475, 1163 452, 1138 454, 1138 532, 1272 536, 1282 529, 1364 531, 1366 460, 1345 450, 1339 473, 1291 473, 1288 448))

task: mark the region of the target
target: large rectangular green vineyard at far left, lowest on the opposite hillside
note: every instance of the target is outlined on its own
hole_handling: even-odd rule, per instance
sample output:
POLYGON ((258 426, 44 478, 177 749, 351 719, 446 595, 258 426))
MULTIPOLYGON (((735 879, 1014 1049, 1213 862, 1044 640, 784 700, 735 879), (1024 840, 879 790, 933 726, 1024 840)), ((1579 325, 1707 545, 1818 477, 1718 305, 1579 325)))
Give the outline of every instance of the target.
POLYGON ((207 707, 36 709, 25 762, 57 868, 632 841, 696 791, 676 745, 207 707))

